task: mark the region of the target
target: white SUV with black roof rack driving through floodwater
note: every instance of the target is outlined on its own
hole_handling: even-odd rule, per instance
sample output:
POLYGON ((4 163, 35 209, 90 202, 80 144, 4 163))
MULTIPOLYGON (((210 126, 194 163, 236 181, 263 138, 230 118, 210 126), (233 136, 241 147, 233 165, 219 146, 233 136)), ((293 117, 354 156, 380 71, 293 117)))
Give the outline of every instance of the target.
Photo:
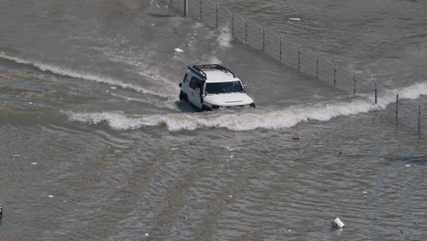
POLYGON ((254 107, 245 86, 234 73, 220 65, 189 66, 180 83, 180 100, 188 101, 199 110, 222 107, 254 107))

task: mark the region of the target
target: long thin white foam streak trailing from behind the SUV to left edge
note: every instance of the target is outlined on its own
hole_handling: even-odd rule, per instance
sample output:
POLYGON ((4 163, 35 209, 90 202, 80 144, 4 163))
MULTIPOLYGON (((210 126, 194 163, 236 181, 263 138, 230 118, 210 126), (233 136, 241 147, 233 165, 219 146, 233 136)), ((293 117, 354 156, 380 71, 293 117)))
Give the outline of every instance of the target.
POLYGON ((151 95, 159 96, 161 98, 168 98, 168 96, 163 95, 161 93, 152 91, 150 89, 145 89, 145 88, 142 88, 142 87, 134 85, 134 84, 125 83, 125 82, 118 80, 118 79, 111 79, 109 77, 102 77, 102 76, 99 76, 97 74, 78 72, 78 71, 70 69, 70 68, 62 68, 62 67, 48 65, 48 64, 40 63, 40 62, 36 62, 36 61, 30 61, 30 60, 26 60, 26 59, 22 59, 22 58, 11 57, 11 56, 5 55, 3 53, 0 53, 0 58, 12 60, 18 64, 30 65, 30 66, 36 67, 42 71, 49 71, 49 72, 52 72, 52 73, 58 74, 58 75, 68 76, 68 77, 77 78, 77 79, 86 79, 86 80, 90 80, 90 81, 108 84, 111 86, 119 86, 122 89, 132 89, 132 90, 140 92, 142 94, 151 94, 151 95))

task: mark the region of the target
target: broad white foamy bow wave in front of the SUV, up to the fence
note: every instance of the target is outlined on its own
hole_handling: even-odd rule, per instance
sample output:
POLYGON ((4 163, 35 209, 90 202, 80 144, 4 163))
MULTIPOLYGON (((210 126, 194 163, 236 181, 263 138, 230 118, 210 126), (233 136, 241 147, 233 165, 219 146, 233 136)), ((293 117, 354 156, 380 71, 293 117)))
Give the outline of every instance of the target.
POLYGON ((179 113, 151 116, 127 116, 122 112, 71 112, 66 111, 70 121, 89 124, 106 122, 113 129, 134 130, 144 127, 166 126, 170 131, 195 130, 198 128, 225 128, 232 131, 254 129, 285 129, 297 123, 317 120, 328 121, 341 115, 376 110, 378 106, 367 100, 341 103, 320 103, 311 107, 289 107, 286 110, 254 110, 222 113, 179 113))

